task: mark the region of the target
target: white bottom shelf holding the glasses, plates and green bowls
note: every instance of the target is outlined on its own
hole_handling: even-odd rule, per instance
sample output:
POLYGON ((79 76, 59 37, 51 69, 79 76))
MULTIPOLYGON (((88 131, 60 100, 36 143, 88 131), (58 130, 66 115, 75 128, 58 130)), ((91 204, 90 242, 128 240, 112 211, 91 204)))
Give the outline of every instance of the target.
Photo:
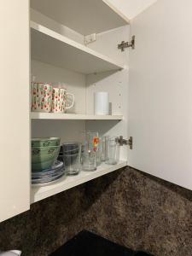
POLYGON ((113 172, 125 166, 127 166, 126 161, 119 161, 119 164, 114 166, 102 164, 102 166, 99 166, 95 172, 82 171, 77 176, 62 177, 58 181, 58 183, 53 183, 49 186, 32 187, 31 203, 43 200, 44 198, 47 198, 51 195, 58 194, 64 190, 71 189, 75 186, 78 186, 79 184, 86 183, 91 179, 94 179, 96 177, 101 177, 102 175, 105 175, 109 172, 113 172))

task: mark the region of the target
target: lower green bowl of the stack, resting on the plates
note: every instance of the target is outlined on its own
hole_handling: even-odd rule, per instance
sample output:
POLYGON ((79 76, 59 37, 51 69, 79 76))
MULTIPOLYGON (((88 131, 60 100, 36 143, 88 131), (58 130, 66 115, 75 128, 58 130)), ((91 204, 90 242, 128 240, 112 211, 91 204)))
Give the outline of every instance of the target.
POLYGON ((32 147, 32 171, 43 171, 53 166, 60 146, 32 147))

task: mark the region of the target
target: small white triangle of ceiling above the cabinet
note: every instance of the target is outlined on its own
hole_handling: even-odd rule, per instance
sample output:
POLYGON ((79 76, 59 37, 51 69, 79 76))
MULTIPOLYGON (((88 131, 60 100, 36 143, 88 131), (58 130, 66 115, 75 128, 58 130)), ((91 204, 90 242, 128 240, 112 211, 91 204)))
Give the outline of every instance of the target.
POLYGON ((132 20, 137 15, 147 9, 157 0, 103 0, 106 3, 111 3, 115 9, 118 9, 129 20, 132 20))

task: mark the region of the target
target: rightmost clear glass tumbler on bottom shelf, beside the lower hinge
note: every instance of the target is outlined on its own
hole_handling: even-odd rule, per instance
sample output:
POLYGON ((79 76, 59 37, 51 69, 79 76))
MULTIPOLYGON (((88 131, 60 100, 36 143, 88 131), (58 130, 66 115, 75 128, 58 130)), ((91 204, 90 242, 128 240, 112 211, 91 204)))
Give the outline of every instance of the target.
POLYGON ((119 162, 119 151, 118 137, 110 137, 108 141, 108 160, 106 164, 116 165, 119 162))

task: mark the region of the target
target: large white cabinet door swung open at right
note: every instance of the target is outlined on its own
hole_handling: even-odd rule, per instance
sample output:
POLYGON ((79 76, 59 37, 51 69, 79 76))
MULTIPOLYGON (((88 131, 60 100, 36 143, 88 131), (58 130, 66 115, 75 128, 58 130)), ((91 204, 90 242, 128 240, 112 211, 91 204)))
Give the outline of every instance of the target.
POLYGON ((131 22, 128 164, 192 189, 192 2, 161 0, 131 22))

